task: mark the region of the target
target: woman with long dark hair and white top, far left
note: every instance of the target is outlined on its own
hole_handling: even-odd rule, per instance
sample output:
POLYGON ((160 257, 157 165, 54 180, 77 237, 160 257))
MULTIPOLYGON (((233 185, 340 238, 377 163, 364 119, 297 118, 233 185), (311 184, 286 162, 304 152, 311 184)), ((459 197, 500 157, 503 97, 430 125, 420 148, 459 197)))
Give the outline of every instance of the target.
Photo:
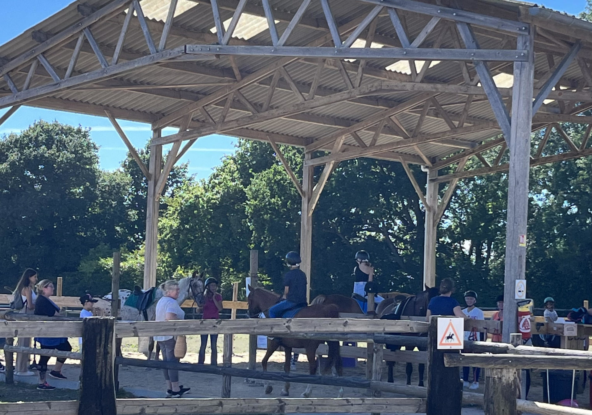
MULTIPOLYGON (((17 289, 14 290, 15 295, 20 295, 21 303, 16 304, 14 301, 13 307, 15 310, 19 305, 22 307, 18 310, 21 314, 33 314, 35 311, 35 302, 37 301, 37 294, 35 293, 35 284, 37 284, 37 271, 31 268, 25 269, 21 278, 18 280, 17 289)), ((15 297, 15 300, 18 300, 15 297)), ((17 346, 28 348, 31 346, 30 337, 19 337, 17 346)), ((17 353, 17 362, 15 364, 15 375, 19 376, 33 376, 34 373, 29 369, 37 369, 37 365, 33 362, 30 364, 31 355, 29 353, 17 353)))

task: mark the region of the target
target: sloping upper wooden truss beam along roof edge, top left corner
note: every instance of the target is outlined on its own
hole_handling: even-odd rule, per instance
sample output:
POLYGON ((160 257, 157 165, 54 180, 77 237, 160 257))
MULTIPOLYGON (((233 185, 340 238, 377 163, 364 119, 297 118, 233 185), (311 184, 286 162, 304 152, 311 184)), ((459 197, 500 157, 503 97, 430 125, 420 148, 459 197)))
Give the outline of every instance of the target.
POLYGON ((66 28, 65 30, 62 30, 55 36, 50 37, 43 43, 36 45, 35 47, 33 47, 25 53, 21 53, 20 55, 12 59, 10 62, 0 67, 0 75, 4 75, 5 73, 8 73, 10 70, 15 69, 18 66, 21 66, 28 60, 34 59, 39 54, 46 52, 53 46, 62 44, 63 41, 79 33, 80 31, 82 31, 83 28, 88 27, 91 24, 101 20, 101 18, 123 10, 127 7, 128 2, 129 0, 114 0, 110 2, 98 11, 89 15, 88 17, 83 18, 81 21, 78 21, 72 26, 66 28))

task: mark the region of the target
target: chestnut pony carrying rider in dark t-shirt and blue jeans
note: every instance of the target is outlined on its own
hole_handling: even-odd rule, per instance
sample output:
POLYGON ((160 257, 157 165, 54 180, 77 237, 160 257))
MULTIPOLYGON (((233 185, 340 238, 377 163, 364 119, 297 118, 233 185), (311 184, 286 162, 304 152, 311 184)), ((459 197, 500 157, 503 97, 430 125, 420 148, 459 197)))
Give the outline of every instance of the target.
MULTIPOLYGON (((247 300, 247 304, 249 305, 249 317, 256 317, 262 312, 266 314, 266 317, 269 317, 267 311, 269 310, 269 307, 278 303, 279 297, 279 294, 276 294, 275 292, 268 291, 267 289, 259 287, 253 288, 249 285, 249 297, 247 300)), ((298 317, 336 318, 339 317, 339 311, 337 311, 337 307, 335 307, 334 305, 309 305, 308 307, 305 307, 302 310, 298 311, 298 313, 294 316, 294 318, 298 317)), ((267 362, 269 361, 271 355, 275 352, 275 350, 279 348, 279 346, 283 346, 285 353, 284 371, 286 373, 289 373, 290 371, 290 358, 292 356, 292 348, 303 348, 306 350, 310 374, 314 375, 317 372, 316 352, 318 345, 320 345, 321 343, 324 342, 321 342, 320 340, 283 339, 278 337, 268 339, 267 352, 265 353, 265 357, 261 362, 263 371, 267 371, 267 362)), ((323 369, 327 370, 332 368, 333 365, 335 365, 337 375, 342 376, 343 367, 339 349, 339 342, 327 342, 327 345, 329 346, 329 352, 327 353, 329 361, 327 362, 326 367, 324 367, 323 369)), ((281 395, 288 396, 289 388, 290 382, 285 382, 285 386, 284 389, 281 391, 281 395)), ((265 393, 270 394, 273 390, 274 388, 272 387, 272 385, 269 384, 269 382, 266 382, 265 393)), ((303 398, 308 398, 310 397, 311 392, 312 386, 310 384, 307 384, 306 390, 301 396, 303 398)), ((342 395, 343 388, 340 388, 339 397, 342 397, 342 395)))

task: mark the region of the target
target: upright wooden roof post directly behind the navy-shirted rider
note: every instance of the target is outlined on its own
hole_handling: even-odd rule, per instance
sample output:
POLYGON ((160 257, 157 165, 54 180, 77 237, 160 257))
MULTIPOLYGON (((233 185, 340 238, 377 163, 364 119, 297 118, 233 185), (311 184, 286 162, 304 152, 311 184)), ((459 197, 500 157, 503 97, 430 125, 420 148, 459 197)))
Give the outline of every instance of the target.
MULTIPOLYGON (((304 162, 311 159, 311 153, 304 153, 304 162)), ((308 214, 310 202, 313 197, 314 167, 303 166, 302 173, 302 198, 300 210, 300 269, 306 274, 306 301, 310 303, 310 271, 313 256, 313 217, 308 214)))

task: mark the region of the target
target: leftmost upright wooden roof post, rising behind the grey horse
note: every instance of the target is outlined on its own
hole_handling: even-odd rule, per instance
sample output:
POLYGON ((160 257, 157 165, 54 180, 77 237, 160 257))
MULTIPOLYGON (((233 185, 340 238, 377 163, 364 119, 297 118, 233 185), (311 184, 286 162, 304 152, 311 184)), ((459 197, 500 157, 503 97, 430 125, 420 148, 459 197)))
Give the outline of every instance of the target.
MULTIPOLYGON (((160 137, 160 128, 152 131, 152 138, 160 137)), ((156 285, 156 255, 158 253, 158 211, 159 195, 156 184, 160 177, 162 146, 150 147, 148 195, 146 200, 146 239, 144 247, 144 289, 156 285)))

